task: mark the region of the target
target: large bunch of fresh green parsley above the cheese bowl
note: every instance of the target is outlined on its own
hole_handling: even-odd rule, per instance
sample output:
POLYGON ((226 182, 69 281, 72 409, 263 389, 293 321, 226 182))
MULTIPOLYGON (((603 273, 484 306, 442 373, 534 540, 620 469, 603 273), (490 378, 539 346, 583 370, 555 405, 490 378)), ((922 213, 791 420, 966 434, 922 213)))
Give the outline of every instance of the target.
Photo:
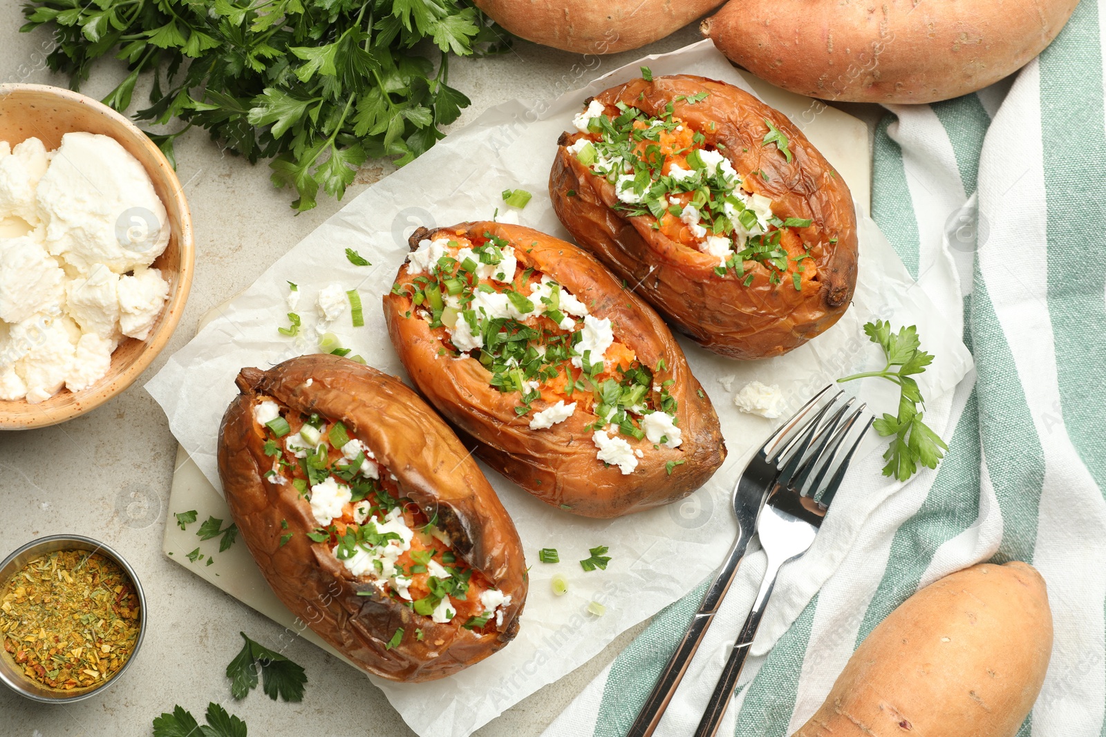
POLYGON ((207 128, 250 162, 272 159, 273 183, 295 188, 300 212, 320 187, 341 199, 368 157, 403 166, 434 146, 470 104, 448 84, 449 53, 499 48, 460 0, 45 0, 23 13, 21 30, 53 30, 48 64, 74 90, 95 60, 127 63, 103 101, 117 110, 153 75, 150 105, 134 117, 184 124, 150 136, 170 161, 177 136, 207 128), (437 72, 416 44, 440 54, 437 72))

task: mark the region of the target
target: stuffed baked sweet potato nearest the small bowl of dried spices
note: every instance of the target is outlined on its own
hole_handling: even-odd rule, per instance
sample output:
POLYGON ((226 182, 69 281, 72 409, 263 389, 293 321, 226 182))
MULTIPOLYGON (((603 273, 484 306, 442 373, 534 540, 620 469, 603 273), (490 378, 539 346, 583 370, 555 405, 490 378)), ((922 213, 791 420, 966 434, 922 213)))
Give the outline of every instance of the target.
POLYGON ((284 604, 358 666, 440 678, 510 642, 522 544, 465 446, 397 379, 330 355, 247 368, 219 477, 284 604))

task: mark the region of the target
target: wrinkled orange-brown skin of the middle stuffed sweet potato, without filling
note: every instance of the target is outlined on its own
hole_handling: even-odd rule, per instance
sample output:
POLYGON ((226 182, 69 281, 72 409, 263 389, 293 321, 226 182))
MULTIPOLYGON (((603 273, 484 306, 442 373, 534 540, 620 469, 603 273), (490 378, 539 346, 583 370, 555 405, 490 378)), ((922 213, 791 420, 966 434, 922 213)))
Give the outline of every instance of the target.
MULTIPOLYGON (((651 445, 634 473, 623 475, 615 466, 604 467, 595 457, 592 431, 596 422, 589 412, 577 410, 571 418, 546 430, 533 431, 529 418, 519 418, 518 398, 489 386, 491 373, 473 358, 438 356, 441 343, 422 319, 404 315, 411 308, 406 295, 387 294, 384 314, 392 343, 410 373, 411 381, 427 400, 458 430, 473 441, 488 465, 519 484, 541 501, 586 517, 616 517, 680 499, 710 478, 726 459, 718 414, 699 381, 691 375, 679 344, 657 314, 622 285, 593 256, 571 243, 530 228, 495 222, 460 223, 442 228, 478 238, 491 232, 517 248, 519 264, 535 267, 561 283, 584 302, 593 315, 609 317, 620 326, 620 335, 635 349, 641 364, 667 365, 661 379, 675 383, 682 443, 679 449, 651 445), (669 474, 666 463, 685 461, 669 474)), ((411 235, 417 246, 432 238, 425 229, 411 235)), ((397 281, 407 278, 406 264, 397 281)), ((616 335, 619 327, 616 327, 616 335)), ((660 375, 657 375, 660 376, 660 375)), ((660 379, 656 379, 659 381, 660 379)), ((544 401, 534 403, 545 409, 544 401)), ((645 448, 645 445, 643 445, 645 448)))

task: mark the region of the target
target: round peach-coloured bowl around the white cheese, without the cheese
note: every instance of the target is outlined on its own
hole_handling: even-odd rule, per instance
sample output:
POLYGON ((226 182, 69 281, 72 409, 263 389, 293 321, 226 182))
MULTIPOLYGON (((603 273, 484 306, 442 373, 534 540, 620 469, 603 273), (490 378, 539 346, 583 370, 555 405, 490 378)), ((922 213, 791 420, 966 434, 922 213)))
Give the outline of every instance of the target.
POLYGON ((169 298, 145 340, 124 337, 107 375, 87 389, 62 389, 44 402, 0 401, 0 430, 42 428, 72 420, 124 391, 161 351, 185 310, 196 253, 188 202, 177 175, 160 149, 131 120, 91 97, 41 84, 0 84, 0 140, 12 147, 35 137, 48 150, 76 130, 111 136, 149 175, 169 217, 169 244, 153 263, 169 283, 169 298))

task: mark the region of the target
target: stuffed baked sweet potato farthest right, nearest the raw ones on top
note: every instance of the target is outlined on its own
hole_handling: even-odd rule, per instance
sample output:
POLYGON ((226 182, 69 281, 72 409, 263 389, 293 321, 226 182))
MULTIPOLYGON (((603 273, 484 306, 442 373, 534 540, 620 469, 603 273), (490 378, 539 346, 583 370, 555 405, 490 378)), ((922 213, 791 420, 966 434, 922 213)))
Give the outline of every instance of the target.
POLYGON ((787 118, 690 75, 585 103, 550 175, 581 245, 723 356, 785 354, 837 322, 856 286, 853 200, 787 118))

